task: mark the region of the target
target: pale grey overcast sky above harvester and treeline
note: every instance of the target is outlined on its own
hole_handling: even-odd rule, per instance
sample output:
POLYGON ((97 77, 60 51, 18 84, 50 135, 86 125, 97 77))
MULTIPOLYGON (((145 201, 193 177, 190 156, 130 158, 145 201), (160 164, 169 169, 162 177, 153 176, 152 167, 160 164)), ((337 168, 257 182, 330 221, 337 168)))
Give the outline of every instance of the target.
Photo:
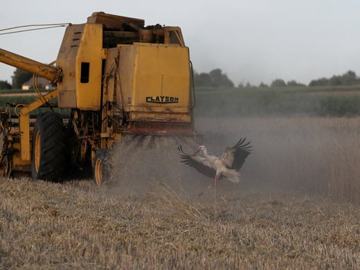
MULTIPOLYGON (((82 24, 92 12, 180 26, 197 72, 219 68, 239 82, 360 75, 357 0, 18 0, 1 1, 0 29, 25 24, 82 24)), ((2 32, 0 32, 2 33, 2 32)), ((52 62, 64 28, 0 35, 0 48, 52 62)), ((0 64, 0 80, 15 68, 0 64)))

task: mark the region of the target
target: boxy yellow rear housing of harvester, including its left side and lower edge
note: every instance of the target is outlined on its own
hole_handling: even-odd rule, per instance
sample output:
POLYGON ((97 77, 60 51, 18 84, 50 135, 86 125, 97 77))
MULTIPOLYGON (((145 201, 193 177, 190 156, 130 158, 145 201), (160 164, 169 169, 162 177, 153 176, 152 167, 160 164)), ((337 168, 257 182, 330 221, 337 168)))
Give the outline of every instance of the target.
POLYGON ((188 48, 143 43, 119 48, 119 90, 130 120, 190 122, 188 48))

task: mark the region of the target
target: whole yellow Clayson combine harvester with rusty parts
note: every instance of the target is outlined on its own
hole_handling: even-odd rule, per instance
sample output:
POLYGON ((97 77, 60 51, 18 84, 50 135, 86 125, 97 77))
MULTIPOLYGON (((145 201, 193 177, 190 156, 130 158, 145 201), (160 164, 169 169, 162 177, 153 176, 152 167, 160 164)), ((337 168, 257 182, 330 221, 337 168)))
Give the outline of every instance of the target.
POLYGON ((59 181, 67 166, 91 163, 100 185, 107 150, 124 134, 193 134, 192 67, 179 27, 94 12, 86 24, 66 28, 53 64, 2 49, 0 62, 55 87, 0 109, 0 175, 27 171, 59 181), (48 110, 34 116, 39 107, 48 110))

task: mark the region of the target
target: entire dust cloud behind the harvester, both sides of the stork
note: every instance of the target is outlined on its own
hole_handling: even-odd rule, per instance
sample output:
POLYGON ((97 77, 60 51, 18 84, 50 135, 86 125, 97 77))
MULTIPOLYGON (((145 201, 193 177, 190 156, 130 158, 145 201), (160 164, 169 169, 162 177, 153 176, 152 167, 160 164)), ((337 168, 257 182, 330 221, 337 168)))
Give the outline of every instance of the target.
POLYGON ((220 156, 225 147, 246 137, 253 152, 240 170, 242 181, 219 181, 219 194, 291 190, 334 195, 343 190, 337 195, 348 196, 340 179, 350 179, 348 185, 359 175, 359 126, 356 118, 217 116, 196 118, 197 132, 203 135, 199 138, 125 136, 111 156, 109 192, 139 195, 164 182, 189 196, 211 193, 212 179, 181 163, 178 145, 192 154, 204 144, 210 154, 220 156))

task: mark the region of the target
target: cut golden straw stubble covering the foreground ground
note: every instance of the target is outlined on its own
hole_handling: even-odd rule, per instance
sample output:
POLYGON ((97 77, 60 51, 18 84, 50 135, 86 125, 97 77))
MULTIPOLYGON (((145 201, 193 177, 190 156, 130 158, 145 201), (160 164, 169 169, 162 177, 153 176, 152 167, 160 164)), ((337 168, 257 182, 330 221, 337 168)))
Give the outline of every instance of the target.
POLYGON ((87 181, 61 185, 2 179, 0 268, 360 265, 359 207, 316 197, 243 192, 219 197, 214 220, 211 202, 173 195, 164 200, 172 190, 163 188, 157 196, 107 197, 106 189, 87 181))

